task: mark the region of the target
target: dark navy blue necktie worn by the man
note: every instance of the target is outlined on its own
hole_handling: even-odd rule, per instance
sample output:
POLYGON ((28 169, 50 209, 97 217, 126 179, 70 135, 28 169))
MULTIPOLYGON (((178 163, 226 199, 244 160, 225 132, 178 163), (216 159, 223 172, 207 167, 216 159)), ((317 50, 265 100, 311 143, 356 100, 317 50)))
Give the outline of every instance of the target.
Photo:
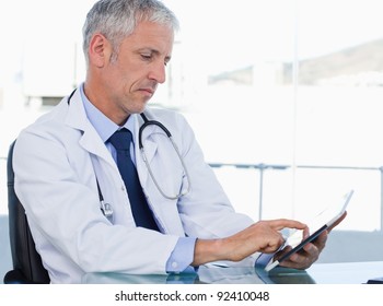
POLYGON ((108 141, 117 152, 117 167, 128 191, 131 211, 137 226, 159 231, 140 185, 136 166, 130 156, 131 132, 116 131, 108 141))

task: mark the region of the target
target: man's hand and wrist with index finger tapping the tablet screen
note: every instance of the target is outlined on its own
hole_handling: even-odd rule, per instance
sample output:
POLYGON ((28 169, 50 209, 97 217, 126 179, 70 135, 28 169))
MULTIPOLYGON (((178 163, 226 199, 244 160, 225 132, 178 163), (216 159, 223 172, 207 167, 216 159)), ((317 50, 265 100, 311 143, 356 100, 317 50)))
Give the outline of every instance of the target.
POLYGON ((301 222, 278 219, 259 221, 247 228, 222 239, 197 239, 193 266, 217 260, 240 261, 256 251, 275 252, 285 239, 279 232, 282 228, 307 229, 301 222))

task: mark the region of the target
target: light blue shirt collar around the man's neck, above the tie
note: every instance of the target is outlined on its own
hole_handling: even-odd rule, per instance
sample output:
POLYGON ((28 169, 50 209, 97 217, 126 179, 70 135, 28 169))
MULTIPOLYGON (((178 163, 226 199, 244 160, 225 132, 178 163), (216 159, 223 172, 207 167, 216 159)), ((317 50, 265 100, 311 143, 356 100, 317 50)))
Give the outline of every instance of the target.
POLYGON ((96 108, 85 96, 84 84, 82 83, 80 86, 80 93, 82 103, 85 108, 86 117, 94 127, 94 129, 100 134, 103 142, 106 142, 109 137, 120 128, 127 128, 132 134, 135 134, 135 120, 136 116, 129 116, 128 120, 125 122, 123 127, 119 127, 115 122, 113 122, 109 118, 107 118, 98 108, 96 108))

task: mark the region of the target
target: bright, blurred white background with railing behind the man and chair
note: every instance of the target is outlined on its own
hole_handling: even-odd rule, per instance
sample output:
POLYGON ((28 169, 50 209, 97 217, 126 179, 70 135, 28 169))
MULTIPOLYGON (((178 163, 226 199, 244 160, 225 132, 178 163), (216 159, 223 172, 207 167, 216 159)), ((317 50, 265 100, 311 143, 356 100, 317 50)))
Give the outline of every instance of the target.
MULTIPOLYGON (((0 0, 0 274, 9 145, 84 80, 94 2, 0 0)), ((381 1, 163 2, 181 31, 151 104, 186 117, 234 208, 307 221, 353 189, 320 261, 383 260, 381 1)))

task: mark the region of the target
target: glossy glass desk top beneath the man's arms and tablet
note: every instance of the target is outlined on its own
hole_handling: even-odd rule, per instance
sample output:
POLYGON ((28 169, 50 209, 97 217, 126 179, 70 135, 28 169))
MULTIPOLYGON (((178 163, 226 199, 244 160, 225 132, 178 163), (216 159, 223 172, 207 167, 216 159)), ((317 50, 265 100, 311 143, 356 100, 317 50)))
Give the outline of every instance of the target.
POLYGON ((83 283, 101 284, 363 284, 383 276, 383 261, 316 263, 307 270, 277 267, 200 267, 198 273, 131 275, 89 273, 83 283))

